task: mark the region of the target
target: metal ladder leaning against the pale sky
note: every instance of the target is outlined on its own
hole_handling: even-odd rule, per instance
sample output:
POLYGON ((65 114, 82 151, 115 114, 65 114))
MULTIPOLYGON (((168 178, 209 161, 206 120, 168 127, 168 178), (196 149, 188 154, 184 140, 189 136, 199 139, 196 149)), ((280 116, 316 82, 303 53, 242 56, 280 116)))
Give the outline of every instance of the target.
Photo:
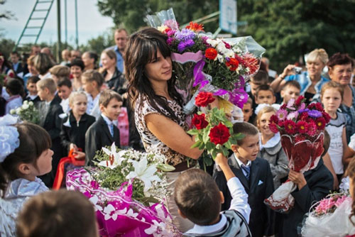
POLYGON ((27 20, 25 28, 18 38, 15 48, 21 47, 21 40, 23 38, 35 38, 35 44, 37 43, 38 38, 40 37, 40 33, 42 32, 43 26, 45 24, 45 20, 47 20, 50 9, 55 0, 36 0, 35 6, 33 6, 33 10, 30 14, 30 17, 27 20))

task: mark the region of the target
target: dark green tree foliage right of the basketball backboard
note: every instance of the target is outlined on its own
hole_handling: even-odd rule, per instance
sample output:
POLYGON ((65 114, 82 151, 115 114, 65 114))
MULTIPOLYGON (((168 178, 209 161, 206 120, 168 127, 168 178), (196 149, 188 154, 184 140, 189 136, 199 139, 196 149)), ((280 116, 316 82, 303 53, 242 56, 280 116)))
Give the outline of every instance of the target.
POLYGON ((324 48, 329 56, 355 54, 355 1, 239 0, 245 35, 266 48, 271 67, 283 70, 305 53, 324 48))

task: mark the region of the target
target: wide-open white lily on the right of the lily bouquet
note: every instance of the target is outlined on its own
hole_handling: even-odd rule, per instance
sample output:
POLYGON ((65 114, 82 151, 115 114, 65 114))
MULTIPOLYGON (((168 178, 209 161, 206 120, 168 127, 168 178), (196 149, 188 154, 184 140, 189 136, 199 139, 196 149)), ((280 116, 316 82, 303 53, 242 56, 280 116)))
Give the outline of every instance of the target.
POLYGON ((136 160, 129 160, 129 162, 132 162, 134 171, 129 172, 129 175, 127 175, 126 178, 137 178, 139 180, 142 180, 144 183, 144 192, 148 191, 148 189, 151 188, 152 181, 161 181, 157 175, 154 175, 154 173, 157 171, 157 168, 155 167, 155 165, 148 166, 147 158, 143 158, 142 160, 139 160, 139 162, 137 162, 136 160))

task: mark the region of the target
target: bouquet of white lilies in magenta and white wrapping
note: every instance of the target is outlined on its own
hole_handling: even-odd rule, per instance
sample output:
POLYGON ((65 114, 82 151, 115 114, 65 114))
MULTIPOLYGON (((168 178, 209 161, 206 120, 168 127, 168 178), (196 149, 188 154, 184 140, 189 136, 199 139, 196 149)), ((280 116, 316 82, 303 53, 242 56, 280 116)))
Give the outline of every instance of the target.
POLYGON ((67 189, 82 192, 95 206, 101 236, 180 236, 163 205, 167 182, 160 155, 102 148, 96 167, 72 170, 67 189))

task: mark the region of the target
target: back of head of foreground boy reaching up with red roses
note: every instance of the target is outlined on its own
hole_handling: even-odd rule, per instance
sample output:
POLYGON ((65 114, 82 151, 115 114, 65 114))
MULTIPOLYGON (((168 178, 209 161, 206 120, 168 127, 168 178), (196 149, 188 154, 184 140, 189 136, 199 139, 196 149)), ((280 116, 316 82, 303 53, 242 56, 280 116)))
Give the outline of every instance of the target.
POLYGON ((217 184, 202 170, 183 172, 175 182, 174 198, 181 213, 199 226, 212 224, 221 211, 217 184))

